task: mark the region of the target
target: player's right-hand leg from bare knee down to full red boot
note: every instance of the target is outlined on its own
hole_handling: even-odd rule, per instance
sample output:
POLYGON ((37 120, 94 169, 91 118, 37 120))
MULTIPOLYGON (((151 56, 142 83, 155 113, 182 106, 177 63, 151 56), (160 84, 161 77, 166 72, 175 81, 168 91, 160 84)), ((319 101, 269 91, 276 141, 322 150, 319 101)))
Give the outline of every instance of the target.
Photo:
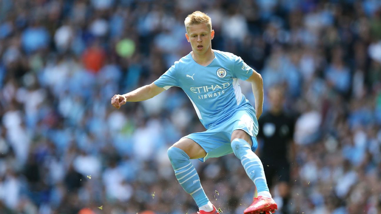
POLYGON ((233 131, 231 146, 234 155, 241 160, 247 175, 253 180, 258 192, 257 199, 264 198, 263 200, 254 200, 253 204, 245 210, 245 214, 277 209, 277 205, 274 200, 272 200, 269 188, 267 187, 262 162, 251 150, 252 144, 251 136, 245 131, 240 129, 233 131))

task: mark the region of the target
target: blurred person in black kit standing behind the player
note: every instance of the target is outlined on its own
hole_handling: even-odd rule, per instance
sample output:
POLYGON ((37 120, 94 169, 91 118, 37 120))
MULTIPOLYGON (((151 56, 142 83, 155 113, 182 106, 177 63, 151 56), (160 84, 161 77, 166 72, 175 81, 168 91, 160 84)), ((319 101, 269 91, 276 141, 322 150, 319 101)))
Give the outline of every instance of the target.
POLYGON ((295 144, 293 142, 295 119, 283 110, 282 88, 271 88, 268 97, 271 108, 262 114, 258 121, 258 142, 262 142, 263 145, 259 146, 261 151, 257 155, 260 155, 263 162, 270 191, 274 192, 274 186, 278 185, 279 195, 283 198, 283 206, 280 211, 283 214, 289 214, 290 161, 295 160, 295 144))

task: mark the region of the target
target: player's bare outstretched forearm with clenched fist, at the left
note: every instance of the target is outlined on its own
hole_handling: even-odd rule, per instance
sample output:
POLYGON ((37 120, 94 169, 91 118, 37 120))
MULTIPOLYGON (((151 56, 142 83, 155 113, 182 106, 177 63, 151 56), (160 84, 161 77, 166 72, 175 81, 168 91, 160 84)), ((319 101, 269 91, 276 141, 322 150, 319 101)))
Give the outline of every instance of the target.
POLYGON ((155 83, 151 83, 150 85, 142 86, 126 94, 115 94, 114 97, 111 98, 111 104, 119 109, 126 102, 144 101, 162 93, 163 91, 165 91, 164 88, 160 88, 156 86, 155 83))

